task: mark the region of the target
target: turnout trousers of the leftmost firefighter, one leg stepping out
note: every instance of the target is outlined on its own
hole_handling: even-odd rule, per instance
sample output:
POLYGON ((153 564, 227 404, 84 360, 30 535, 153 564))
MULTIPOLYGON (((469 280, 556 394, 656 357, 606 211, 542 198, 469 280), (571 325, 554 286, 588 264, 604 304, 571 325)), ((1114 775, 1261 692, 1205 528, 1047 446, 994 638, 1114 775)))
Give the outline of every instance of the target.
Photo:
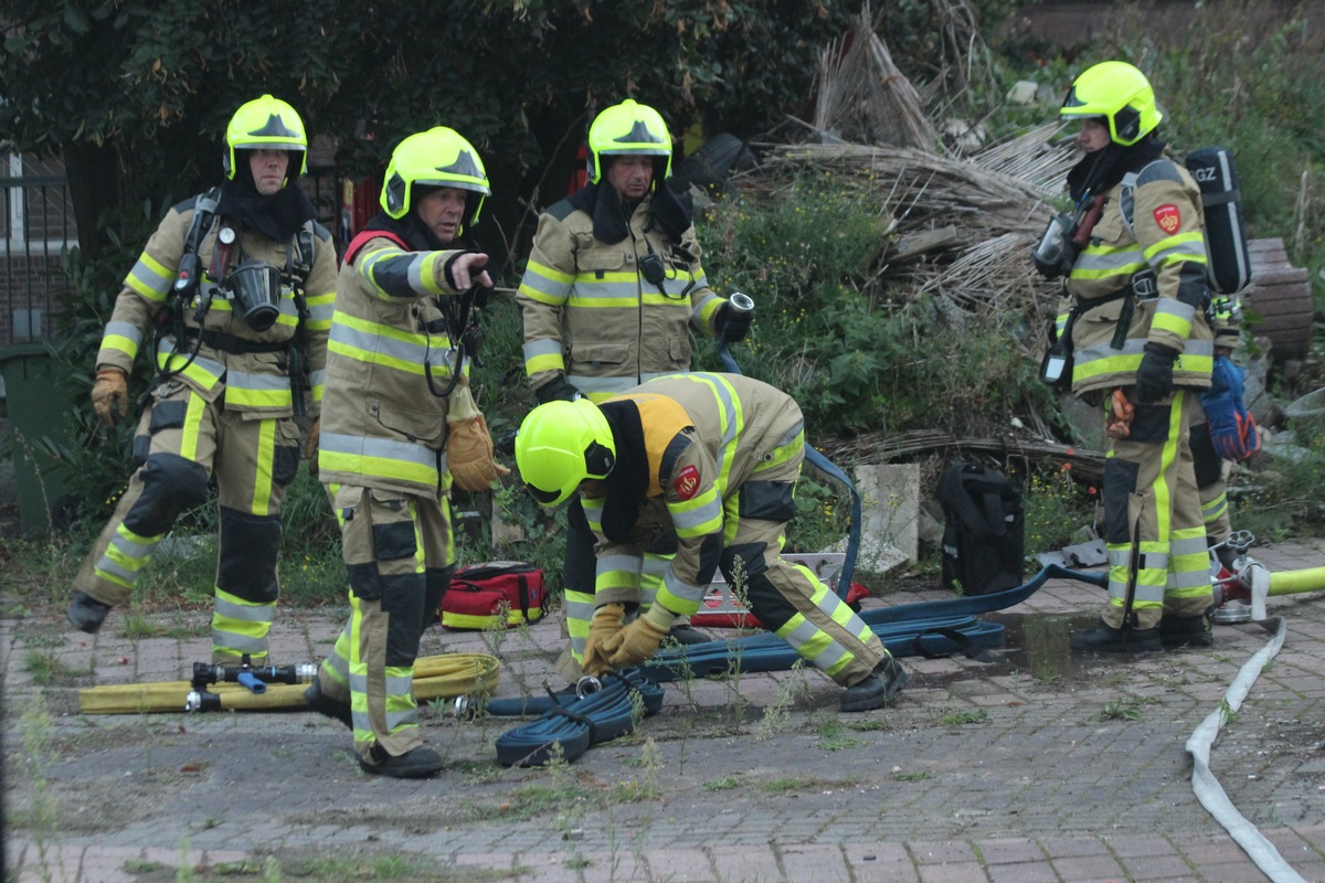
POLYGON ((83 561, 74 588, 102 604, 125 604, 179 515, 207 502, 216 475, 220 540, 212 662, 268 655, 280 592, 281 503, 299 466, 292 417, 262 418, 225 409, 188 385, 166 381, 143 412, 134 438, 139 463, 129 488, 83 561))

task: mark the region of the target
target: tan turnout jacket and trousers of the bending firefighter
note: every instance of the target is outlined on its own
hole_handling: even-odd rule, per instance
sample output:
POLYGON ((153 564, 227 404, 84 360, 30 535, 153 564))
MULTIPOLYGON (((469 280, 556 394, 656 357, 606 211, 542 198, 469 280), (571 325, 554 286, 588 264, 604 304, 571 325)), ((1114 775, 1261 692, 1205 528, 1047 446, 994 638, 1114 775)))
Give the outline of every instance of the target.
POLYGON ((886 658, 829 586, 779 557, 806 450, 790 396, 741 375, 684 373, 600 408, 616 465, 603 496, 582 498, 599 540, 596 605, 637 602, 644 549, 670 532, 677 552, 655 604, 694 613, 721 568, 765 627, 835 682, 857 683, 886 658))

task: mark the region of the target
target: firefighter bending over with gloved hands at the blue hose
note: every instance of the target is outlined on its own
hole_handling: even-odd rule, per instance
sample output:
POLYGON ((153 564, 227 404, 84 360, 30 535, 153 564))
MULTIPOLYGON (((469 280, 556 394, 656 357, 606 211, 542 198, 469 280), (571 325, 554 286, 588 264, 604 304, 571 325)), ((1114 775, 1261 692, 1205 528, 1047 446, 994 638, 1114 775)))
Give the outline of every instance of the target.
POLYGON ((543 506, 579 499, 598 539, 587 674, 652 657, 721 569, 770 631, 845 687, 843 711, 881 708, 906 686, 869 626, 808 568, 779 557, 804 449, 796 402, 739 375, 673 375, 602 404, 529 413, 515 436, 521 478, 543 506), (659 535, 677 551, 652 606, 631 618, 659 535))

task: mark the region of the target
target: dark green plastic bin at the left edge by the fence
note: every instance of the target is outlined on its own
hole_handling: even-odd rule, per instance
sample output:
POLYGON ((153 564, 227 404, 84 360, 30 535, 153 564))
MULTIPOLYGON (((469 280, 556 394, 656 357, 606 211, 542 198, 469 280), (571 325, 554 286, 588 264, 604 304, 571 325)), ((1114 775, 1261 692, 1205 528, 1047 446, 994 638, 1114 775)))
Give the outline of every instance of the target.
POLYGON ((32 445, 44 436, 61 443, 68 441, 65 414, 73 402, 57 383, 58 369, 41 343, 0 347, 19 528, 29 536, 50 530, 52 507, 65 494, 64 470, 32 445))

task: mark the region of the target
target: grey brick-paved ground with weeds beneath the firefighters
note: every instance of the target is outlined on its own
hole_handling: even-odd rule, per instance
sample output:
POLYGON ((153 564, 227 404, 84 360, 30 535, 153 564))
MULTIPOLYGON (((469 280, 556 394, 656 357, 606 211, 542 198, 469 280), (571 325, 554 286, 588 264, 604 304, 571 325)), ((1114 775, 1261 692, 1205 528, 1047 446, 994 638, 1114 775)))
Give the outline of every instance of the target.
MULTIPOLYGON (((1325 565, 1320 543, 1253 555, 1272 571, 1325 565)), ((347 731, 309 712, 77 712, 78 686, 187 678, 209 653, 201 614, 134 639, 119 612, 97 637, 7 620, 7 879, 176 879, 182 860, 189 879, 264 860, 281 879, 318 879, 310 855, 398 857, 432 875, 412 879, 444 880, 1268 879, 1192 796, 1185 751, 1267 633, 1218 626, 1214 649, 1073 658, 1068 630, 1102 594, 1053 580, 984 617, 1006 626, 988 661, 905 658, 913 680, 885 711, 839 714, 837 687, 814 671, 670 683, 659 715, 568 765, 504 768, 494 740, 522 720, 425 708, 448 761, 428 781, 363 774, 347 731), (82 674, 40 688, 42 653, 82 674)), ((1269 612, 1287 641, 1211 767, 1283 858, 1325 880, 1325 594, 1271 598, 1269 612)), ((321 659, 341 625, 282 612, 273 662, 321 659)), ((433 629, 424 653, 494 653, 497 695, 539 694, 562 686, 559 631, 433 629)))

